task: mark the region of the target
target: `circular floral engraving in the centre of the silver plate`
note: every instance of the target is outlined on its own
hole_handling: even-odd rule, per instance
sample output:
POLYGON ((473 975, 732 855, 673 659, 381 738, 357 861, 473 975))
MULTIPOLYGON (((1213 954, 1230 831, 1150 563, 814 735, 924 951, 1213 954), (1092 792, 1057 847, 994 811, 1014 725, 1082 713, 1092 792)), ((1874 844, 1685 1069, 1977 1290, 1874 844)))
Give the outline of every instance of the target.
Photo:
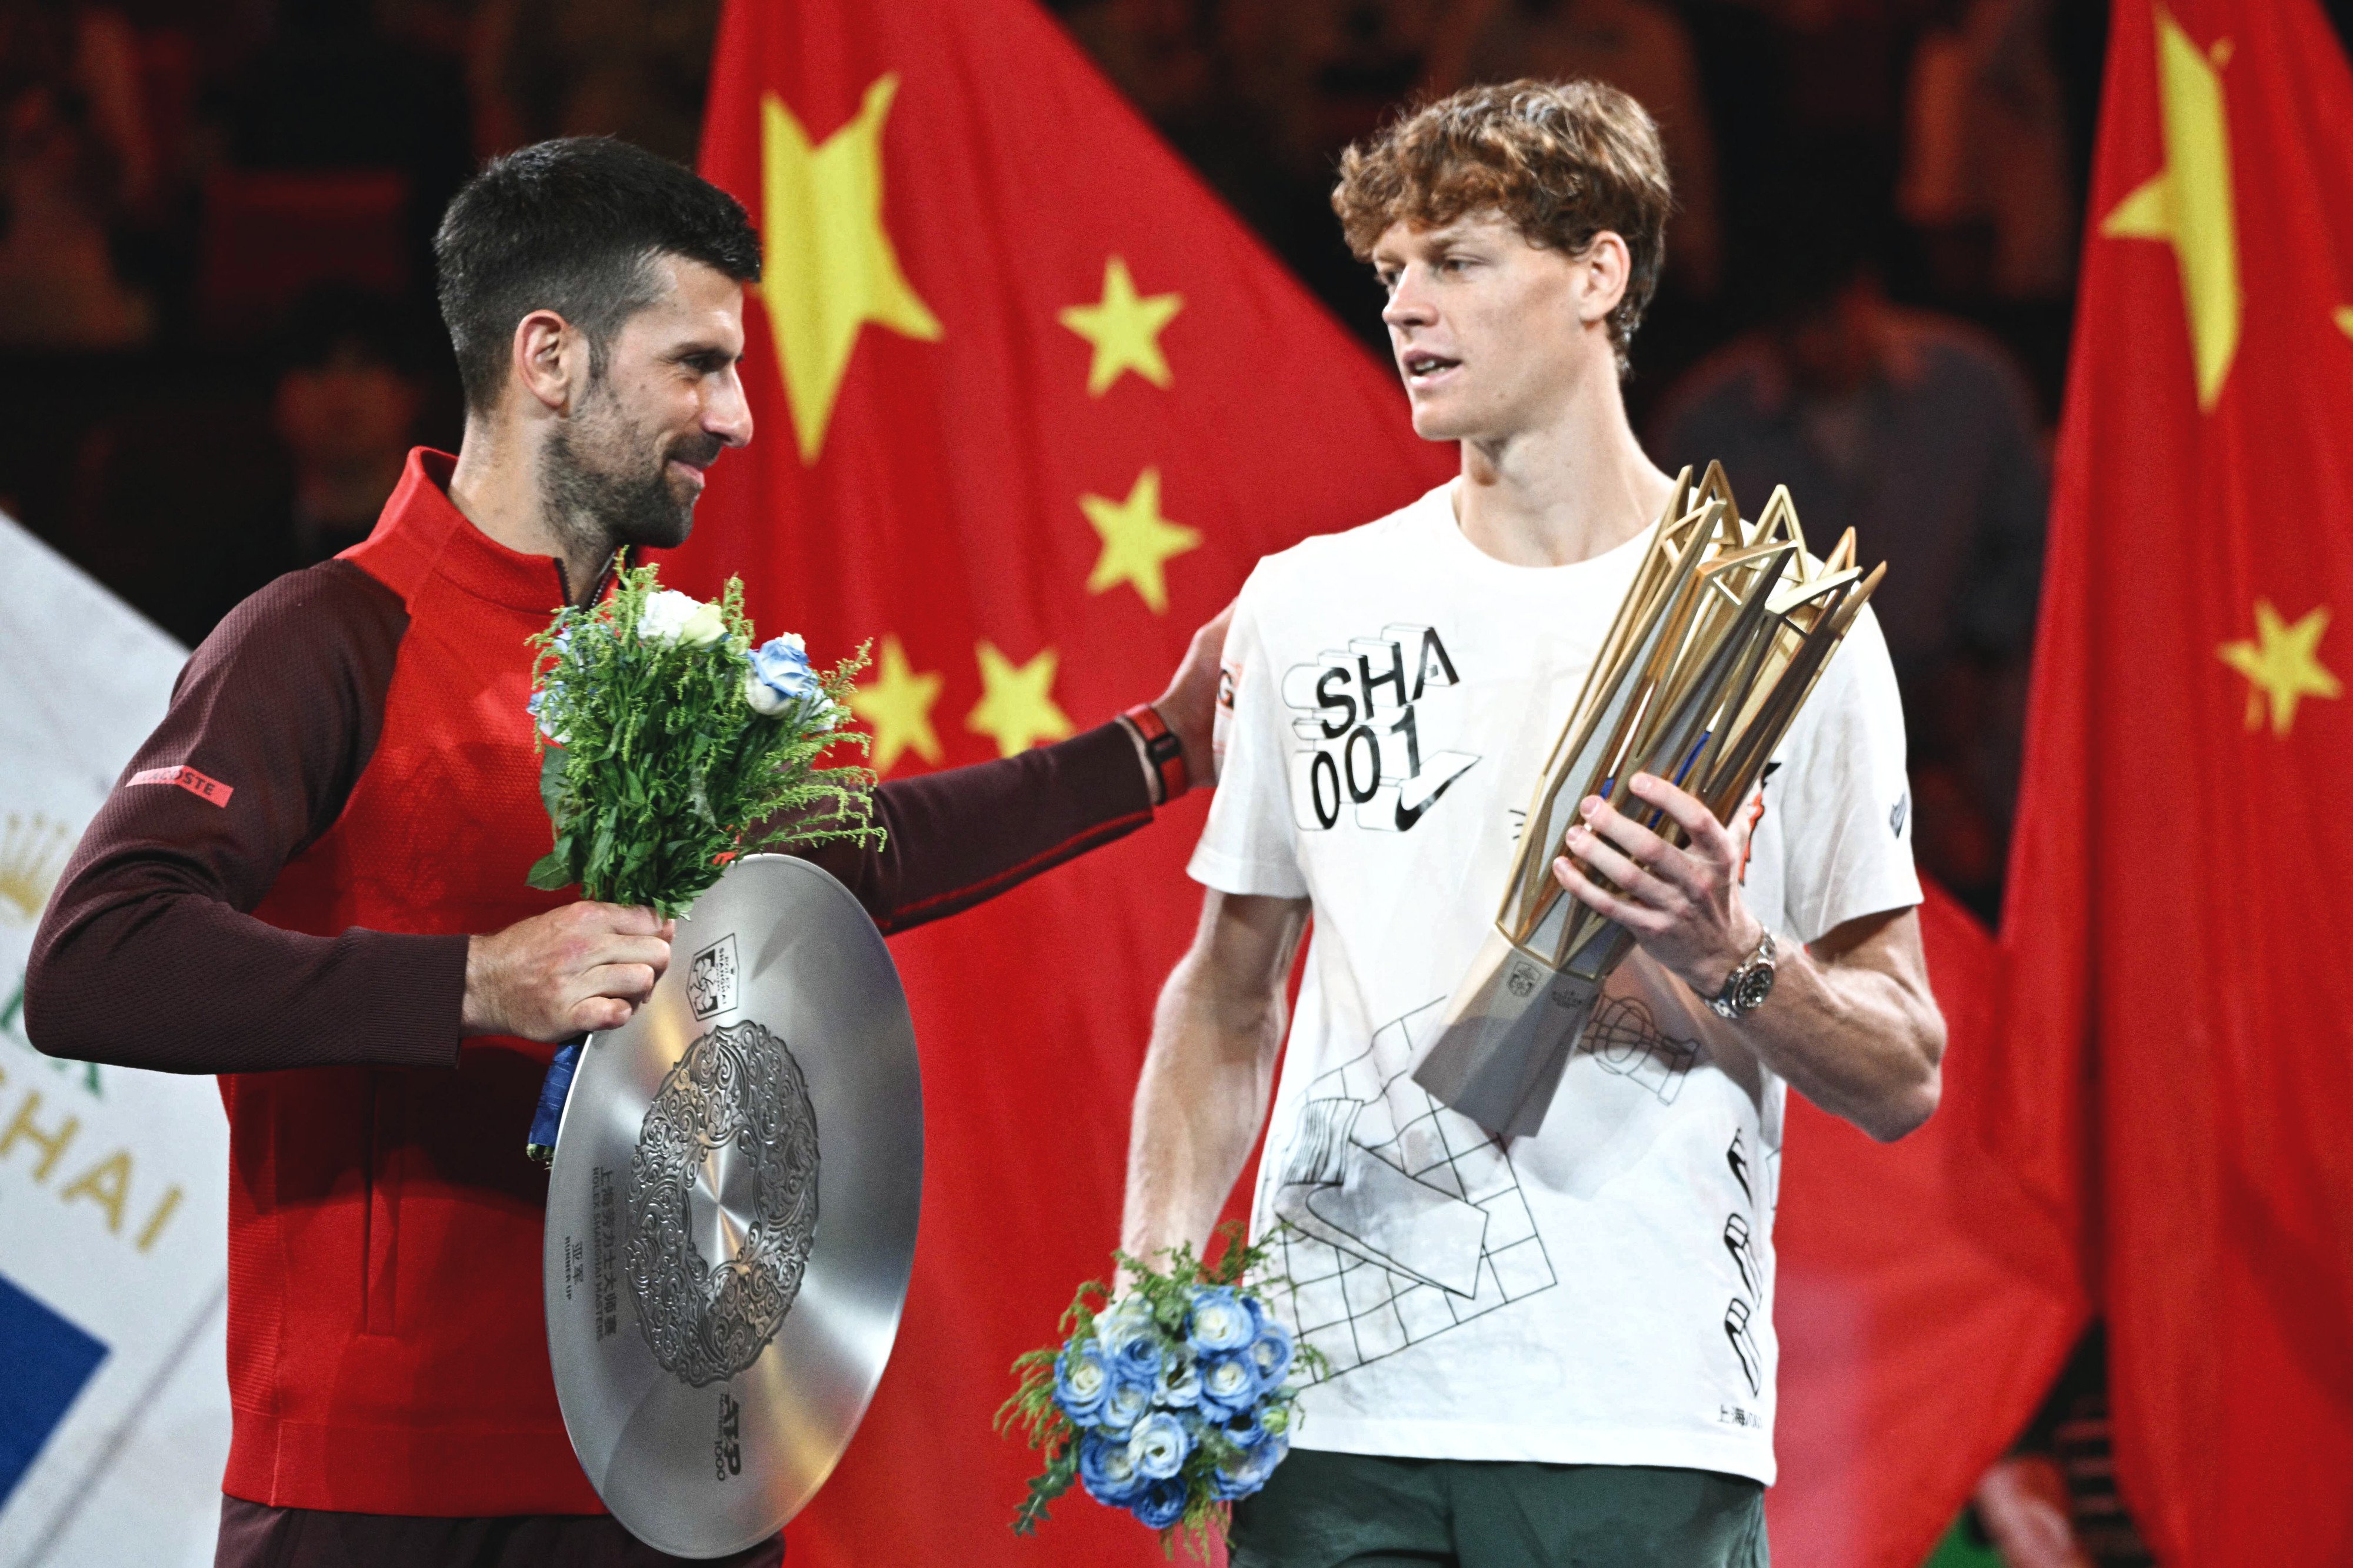
POLYGON ((687 1045, 645 1111, 628 1161, 624 1271, 654 1361, 704 1387, 767 1349, 816 1241, 816 1111, 800 1062, 760 1024, 687 1045), (713 1149, 751 1161, 753 1220, 734 1257, 708 1260, 687 1220, 713 1149))

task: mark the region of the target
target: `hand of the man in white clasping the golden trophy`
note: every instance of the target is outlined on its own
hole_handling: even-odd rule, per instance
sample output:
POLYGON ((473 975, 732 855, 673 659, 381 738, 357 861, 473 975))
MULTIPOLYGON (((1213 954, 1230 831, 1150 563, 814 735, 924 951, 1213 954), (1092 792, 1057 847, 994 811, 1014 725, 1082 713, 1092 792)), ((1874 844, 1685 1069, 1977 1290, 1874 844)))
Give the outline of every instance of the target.
POLYGON ((1586 796, 1577 808, 1581 822, 1567 833, 1567 855, 1553 862, 1553 878, 1633 932, 1642 951, 1697 996, 1715 996, 1765 932, 1741 904, 1748 829, 1727 829, 1701 800, 1647 772, 1633 775, 1626 789, 1666 812, 1689 843, 1671 845, 1600 796, 1586 796), (1586 866, 1617 883, 1619 892, 1595 883, 1586 866))

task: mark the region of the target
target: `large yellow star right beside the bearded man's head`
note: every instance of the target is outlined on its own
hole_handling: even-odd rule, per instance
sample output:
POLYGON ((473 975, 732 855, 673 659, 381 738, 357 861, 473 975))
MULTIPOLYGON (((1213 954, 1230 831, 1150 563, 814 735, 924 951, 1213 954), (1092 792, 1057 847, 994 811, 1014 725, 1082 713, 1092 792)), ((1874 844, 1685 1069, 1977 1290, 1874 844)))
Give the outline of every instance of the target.
POLYGON ((760 301, 805 464, 826 445, 859 327, 939 339, 939 318, 908 287, 882 231, 882 120, 896 92, 896 75, 875 80, 856 118, 824 146, 809 144, 784 99, 760 99, 760 301))

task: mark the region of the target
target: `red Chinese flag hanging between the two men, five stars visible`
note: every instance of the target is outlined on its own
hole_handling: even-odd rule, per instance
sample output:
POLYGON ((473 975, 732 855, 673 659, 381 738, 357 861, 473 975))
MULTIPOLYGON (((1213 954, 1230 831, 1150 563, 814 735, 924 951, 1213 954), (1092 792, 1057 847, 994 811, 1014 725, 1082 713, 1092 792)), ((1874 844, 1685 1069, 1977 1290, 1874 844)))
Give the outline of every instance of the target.
MULTIPOLYGON (((1353 344, 1026 0, 725 12, 704 174, 760 226, 746 386, 671 567, 762 631, 873 640, 885 777, 1158 697, 1259 556, 1454 469, 1353 344)), ((894 939, 922 1041, 925 1208, 889 1373, 791 1561, 1160 1561, 991 1431, 1118 1241, 1151 1005, 1200 913, 1207 796, 894 939)))

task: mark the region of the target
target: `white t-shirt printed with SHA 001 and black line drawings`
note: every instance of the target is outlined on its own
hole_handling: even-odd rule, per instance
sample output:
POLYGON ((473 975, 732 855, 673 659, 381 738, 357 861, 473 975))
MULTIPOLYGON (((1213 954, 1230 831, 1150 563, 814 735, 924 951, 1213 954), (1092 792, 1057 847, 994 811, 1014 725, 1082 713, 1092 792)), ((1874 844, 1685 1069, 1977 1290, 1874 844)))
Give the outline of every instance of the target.
MULTIPOLYGON (((1252 1234, 1332 1361, 1304 1448, 1675 1464, 1769 1483, 1784 1083, 1635 951, 1537 1137, 1412 1067, 1494 925, 1537 770, 1649 530, 1513 567, 1454 485, 1268 556, 1226 636, 1191 873, 1313 899, 1252 1234)), ((1760 791, 1744 899, 1781 939, 1920 902, 1904 713, 1868 610, 1760 791)))

